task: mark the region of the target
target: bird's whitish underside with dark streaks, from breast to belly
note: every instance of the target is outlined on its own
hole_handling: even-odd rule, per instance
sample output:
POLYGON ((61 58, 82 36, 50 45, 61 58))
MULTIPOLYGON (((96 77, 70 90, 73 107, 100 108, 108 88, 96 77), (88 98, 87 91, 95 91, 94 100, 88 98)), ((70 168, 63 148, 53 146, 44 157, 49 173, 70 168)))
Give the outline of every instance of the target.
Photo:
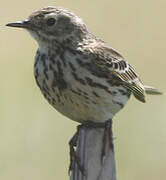
POLYGON ((96 77, 84 68, 75 72, 73 69, 60 61, 54 66, 49 60, 44 63, 38 60, 35 64, 41 92, 64 116, 77 122, 104 122, 112 119, 128 101, 130 93, 124 87, 111 86, 105 78, 96 77))

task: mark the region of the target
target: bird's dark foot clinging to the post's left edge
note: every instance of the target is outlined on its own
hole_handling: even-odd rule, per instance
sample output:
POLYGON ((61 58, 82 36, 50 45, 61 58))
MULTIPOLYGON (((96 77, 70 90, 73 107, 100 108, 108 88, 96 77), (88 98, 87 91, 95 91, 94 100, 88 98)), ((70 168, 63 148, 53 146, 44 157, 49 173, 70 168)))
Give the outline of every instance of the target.
POLYGON ((78 143, 80 126, 81 125, 79 125, 77 127, 77 132, 74 134, 74 136, 69 141, 69 147, 70 147, 70 165, 69 165, 69 170, 68 170, 69 174, 74 169, 75 163, 77 164, 81 173, 84 174, 84 168, 80 163, 80 158, 76 154, 76 147, 77 147, 77 143, 78 143))

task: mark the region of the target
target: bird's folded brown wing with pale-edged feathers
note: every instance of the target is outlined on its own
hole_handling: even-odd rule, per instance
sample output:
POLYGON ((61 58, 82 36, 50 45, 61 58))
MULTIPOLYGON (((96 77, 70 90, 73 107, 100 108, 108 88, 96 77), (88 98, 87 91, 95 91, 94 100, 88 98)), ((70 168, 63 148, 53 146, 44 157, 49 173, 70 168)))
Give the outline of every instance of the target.
POLYGON ((95 47, 94 63, 105 68, 119 83, 129 89, 141 102, 145 102, 145 89, 130 64, 113 48, 104 43, 95 47))

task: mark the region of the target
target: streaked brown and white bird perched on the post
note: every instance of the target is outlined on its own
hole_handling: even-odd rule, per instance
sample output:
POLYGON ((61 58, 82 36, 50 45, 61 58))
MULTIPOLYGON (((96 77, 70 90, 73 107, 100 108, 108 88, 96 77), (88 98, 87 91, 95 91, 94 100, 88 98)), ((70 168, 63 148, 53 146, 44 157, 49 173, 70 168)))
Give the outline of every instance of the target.
POLYGON ((44 7, 27 19, 8 23, 37 41, 34 76, 45 99, 67 118, 84 123, 112 119, 131 95, 145 103, 146 86, 128 61, 62 7, 44 7))

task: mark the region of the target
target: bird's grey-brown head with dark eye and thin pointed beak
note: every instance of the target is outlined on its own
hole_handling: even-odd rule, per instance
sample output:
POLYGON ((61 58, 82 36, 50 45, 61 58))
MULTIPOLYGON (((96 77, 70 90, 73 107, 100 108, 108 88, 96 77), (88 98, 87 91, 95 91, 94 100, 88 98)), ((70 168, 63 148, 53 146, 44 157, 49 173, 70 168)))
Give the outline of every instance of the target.
POLYGON ((60 7, 42 8, 26 20, 9 23, 7 26, 28 30, 39 45, 50 41, 76 43, 90 34, 81 18, 60 7))

